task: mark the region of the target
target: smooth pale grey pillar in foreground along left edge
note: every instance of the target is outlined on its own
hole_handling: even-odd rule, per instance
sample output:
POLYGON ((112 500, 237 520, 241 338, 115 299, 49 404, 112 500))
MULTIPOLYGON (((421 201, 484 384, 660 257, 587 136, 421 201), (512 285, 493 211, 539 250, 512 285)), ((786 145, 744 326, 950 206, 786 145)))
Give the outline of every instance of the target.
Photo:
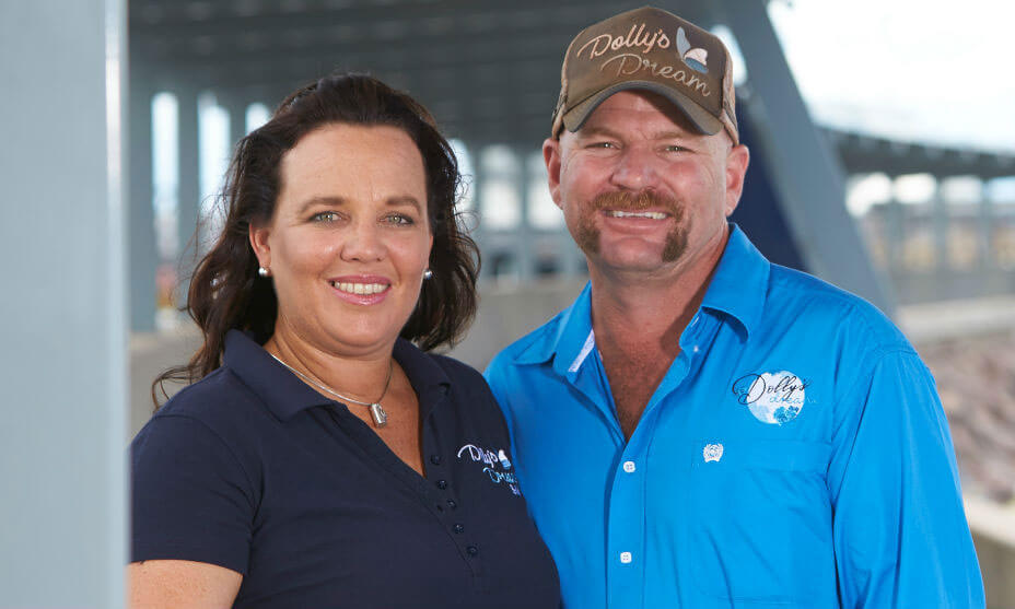
POLYGON ((124 0, 0 4, 0 606, 117 609, 124 0))

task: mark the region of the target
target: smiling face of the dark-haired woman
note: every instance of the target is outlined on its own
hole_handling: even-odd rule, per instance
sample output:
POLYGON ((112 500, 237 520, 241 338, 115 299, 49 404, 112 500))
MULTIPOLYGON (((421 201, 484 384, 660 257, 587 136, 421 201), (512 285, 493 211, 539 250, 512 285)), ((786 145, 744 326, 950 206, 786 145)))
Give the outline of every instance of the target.
POLYGON ((427 175, 395 127, 323 126, 282 157, 275 216, 250 230, 279 302, 276 337, 329 353, 390 350, 433 236, 427 175))

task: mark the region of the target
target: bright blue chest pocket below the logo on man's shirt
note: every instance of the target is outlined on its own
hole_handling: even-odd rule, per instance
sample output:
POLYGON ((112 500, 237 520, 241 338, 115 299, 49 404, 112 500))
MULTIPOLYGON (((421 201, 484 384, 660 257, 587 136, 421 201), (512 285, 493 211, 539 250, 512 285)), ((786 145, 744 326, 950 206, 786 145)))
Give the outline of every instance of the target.
POLYGON ((700 442, 691 458, 695 585, 751 605, 835 598, 830 445, 793 440, 700 442))

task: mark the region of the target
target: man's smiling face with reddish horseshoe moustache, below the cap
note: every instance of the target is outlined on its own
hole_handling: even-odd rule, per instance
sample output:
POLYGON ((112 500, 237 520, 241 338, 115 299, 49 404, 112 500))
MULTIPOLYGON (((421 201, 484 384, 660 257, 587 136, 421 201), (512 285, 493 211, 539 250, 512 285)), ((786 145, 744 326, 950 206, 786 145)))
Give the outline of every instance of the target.
POLYGON ((747 149, 695 131, 664 97, 621 91, 544 143, 550 194, 599 270, 665 272, 722 247, 747 149))

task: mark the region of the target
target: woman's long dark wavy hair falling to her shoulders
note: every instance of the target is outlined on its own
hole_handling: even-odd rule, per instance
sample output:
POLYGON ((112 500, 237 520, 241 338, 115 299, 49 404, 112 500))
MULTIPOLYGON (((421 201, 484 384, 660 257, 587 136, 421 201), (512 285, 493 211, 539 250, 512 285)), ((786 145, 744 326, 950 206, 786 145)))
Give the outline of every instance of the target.
POLYGON ((455 212, 459 175, 451 145, 430 113, 409 95, 372 77, 332 74, 292 93, 267 124, 236 145, 220 196, 225 224, 198 263, 187 296, 186 311, 205 342, 187 364, 155 378, 156 406, 155 388, 163 388, 164 382, 192 383, 222 365, 229 330, 250 332, 259 343, 271 337, 278 301, 270 279, 257 274, 249 226, 270 222, 275 213, 282 156, 301 138, 329 124, 397 127, 416 142, 427 173, 433 278, 423 282, 401 337, 431 350, 453 344, 467 329, 476 314, 479 250, 455 212))

